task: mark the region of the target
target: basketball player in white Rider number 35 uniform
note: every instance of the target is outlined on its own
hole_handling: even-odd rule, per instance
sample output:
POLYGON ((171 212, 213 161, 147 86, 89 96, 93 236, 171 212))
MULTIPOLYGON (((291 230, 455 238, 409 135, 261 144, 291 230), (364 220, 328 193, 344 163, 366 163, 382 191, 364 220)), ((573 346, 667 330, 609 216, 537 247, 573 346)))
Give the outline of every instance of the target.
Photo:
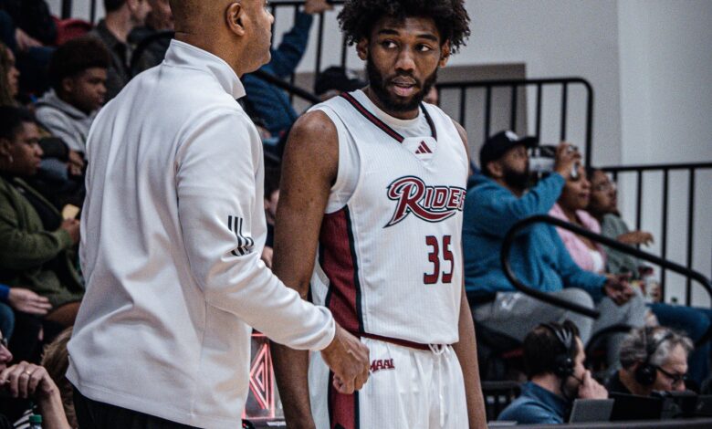
POLYGON ((462 284, 466 132, 422 103, 469 18, 462 1, 352 0, 339 19, 370 85, 291 131, 274 269, 302 297, 311 283, 369 346, 372 375, 340 394, 319 353, 276 346, 289 427, 486 427, 462 284))

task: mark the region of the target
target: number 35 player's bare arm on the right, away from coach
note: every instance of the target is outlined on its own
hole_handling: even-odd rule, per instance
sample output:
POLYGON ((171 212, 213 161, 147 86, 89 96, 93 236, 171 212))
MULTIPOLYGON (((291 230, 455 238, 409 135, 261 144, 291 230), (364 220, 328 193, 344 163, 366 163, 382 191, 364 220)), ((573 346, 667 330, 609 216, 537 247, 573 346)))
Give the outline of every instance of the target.
MULTIPOLYGON (((469 169, 469 151, 467 148, 467 131, 462 125, 453 120, 457 132, 460 134, 465 152, 467 153, 467 168, 469 169)), ((472 173, 472 172, 468 172, 472 173)), ((465 392, 467 400, 467 415, 471 429, 487 428, 487 415, 485 413, 485 400, 482 395, 482 385, 479 381, 479 363, 477 362, 477 341, 475 336, 475 322, 472 320, 470 304, 467 302, 465 284, 463 283, 462 297, 460 299, 460 319, 458 322, 460 340, 453 349, 460 361, 463 378, 465 379, 465 392)))

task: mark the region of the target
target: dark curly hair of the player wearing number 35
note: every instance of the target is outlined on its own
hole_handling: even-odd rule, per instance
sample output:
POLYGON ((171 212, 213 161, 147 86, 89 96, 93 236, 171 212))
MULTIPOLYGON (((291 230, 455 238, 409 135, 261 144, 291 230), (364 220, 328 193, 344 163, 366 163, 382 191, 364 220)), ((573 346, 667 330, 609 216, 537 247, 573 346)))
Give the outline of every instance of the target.
POLYGON ((463 0, 346 0, 339 14, 346 42, 354 45, 370 37, 373 26, 382 16, 433 18, 440 37, 444 42, 450 41, 453 53, 465 46, 470 36, 470 17, 463 0))

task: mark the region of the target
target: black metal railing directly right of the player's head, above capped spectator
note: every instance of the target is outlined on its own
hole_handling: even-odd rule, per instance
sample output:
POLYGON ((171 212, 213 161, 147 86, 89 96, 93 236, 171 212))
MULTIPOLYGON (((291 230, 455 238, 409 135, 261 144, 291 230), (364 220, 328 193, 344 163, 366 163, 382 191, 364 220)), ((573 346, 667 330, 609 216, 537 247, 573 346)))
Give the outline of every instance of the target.
POLYGON ((542 128, 542 113, 543 113, 543 90, 545 87, 560 87, 560 141, 566 141, 569 135, 568 118, 570 97, 569 89, 571 86, 581 86, 586 92, 585 100, 585 119, 584 119, 584 144, 585 144, 585 159, 589 164, 592 158, 592 139, 593 139, 593 87, 588 80, 584 78, 528 78, 528 79, 503 79, 503 80, 481 80, 467 82, 446 82, 438 83, 435 87, 442 91, 443 89, 459 90, 459 111, 458 121, 465 123, 467 117, 467 91, 468 89, 485 89, 485 97, 482 100, 485 111, 485 123, 482 127, 484 131, 484 140, 487 140, 492 134, 499 130, 492 130, 492 93, 496 88, 509 88, 509 129, 517 130, 518 120, 518 102, 519 91, 529 88, 536 89, 535 101, 535 132, 534 135, 539 138, 542 128))

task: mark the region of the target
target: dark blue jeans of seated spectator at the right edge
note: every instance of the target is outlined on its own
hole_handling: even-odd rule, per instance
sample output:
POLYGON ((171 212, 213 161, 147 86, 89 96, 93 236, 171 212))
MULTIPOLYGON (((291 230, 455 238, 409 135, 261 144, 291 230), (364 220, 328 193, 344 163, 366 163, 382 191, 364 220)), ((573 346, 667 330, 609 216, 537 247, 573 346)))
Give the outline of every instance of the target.
MULTIPOLYGON (((684 331, 693 341, 699 340, 712 326, 712 309, 697 309, 686 306, 673 306, 662 303, 649 304, 661 325, 674 330, 684 331)), ((710 341, 696 347, 687 363, 690 379, 697 385, 709 375, 709 354, 712 351, 710 341)))

